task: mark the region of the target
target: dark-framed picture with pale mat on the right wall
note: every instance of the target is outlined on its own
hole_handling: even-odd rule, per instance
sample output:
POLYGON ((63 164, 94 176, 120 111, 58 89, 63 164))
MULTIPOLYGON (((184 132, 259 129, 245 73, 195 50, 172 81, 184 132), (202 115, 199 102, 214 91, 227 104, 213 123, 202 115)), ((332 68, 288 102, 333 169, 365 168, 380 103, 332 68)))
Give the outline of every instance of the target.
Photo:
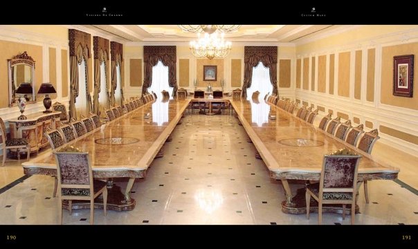
POLYGON ((412 98, 414 55, 393 57, 393 95, 412 98))

